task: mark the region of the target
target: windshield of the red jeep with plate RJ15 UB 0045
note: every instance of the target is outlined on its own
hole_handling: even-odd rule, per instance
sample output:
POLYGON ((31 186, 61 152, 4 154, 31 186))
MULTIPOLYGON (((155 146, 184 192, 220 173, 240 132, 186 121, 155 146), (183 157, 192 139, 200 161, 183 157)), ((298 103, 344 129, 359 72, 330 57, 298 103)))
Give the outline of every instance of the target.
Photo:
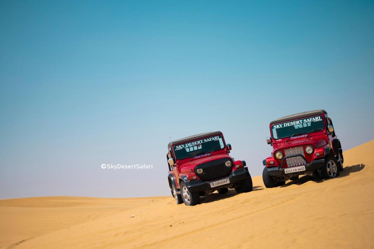
POLYGON ((322 116, 298 119, 290 122, 273 124, 272 133, 274 139, 286 138, 324 129, 322 116))

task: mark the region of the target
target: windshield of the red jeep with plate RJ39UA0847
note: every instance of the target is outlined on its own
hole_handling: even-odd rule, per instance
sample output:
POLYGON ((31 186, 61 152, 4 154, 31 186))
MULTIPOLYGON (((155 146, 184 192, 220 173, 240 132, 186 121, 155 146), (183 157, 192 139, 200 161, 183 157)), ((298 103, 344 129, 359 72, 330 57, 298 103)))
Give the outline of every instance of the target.
POLYGON ((200 140, 188 142, 174 146, 174 152, 177 159, 184 159, 187 157, 195 156, 203 157, 209 156, 209 153, 215 150, 221 150, 225 147, 221 135, 203 138, 200 140), (217 147, 217 148, 216 148, 217 147))

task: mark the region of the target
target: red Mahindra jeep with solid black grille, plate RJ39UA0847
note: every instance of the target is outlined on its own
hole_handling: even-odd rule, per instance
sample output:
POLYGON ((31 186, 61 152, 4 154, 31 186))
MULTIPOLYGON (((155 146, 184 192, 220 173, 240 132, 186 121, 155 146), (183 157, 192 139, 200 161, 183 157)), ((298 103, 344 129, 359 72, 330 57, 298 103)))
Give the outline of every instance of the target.
POLYGON ((222 132, 207 132, 181 138, 168 144, 169 187, 177 204, 200 203, 200 196, 218 190, 227 193, 252 191, 252 178, 245 161, 229 156, 231 145, 222 132))

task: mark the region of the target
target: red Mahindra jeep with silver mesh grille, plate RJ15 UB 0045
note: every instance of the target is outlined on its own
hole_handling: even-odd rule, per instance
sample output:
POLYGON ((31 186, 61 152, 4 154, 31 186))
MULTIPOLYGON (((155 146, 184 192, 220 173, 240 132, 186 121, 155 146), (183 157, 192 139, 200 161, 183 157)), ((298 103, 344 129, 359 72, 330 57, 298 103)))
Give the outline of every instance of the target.
POLYGON ((307 111, 270 122, 266 141, 273 145, 271 157, 263 160, 262 177, 267 188, 295 180, 299 175, 339 176, 343 151, 325 110, 307 111))

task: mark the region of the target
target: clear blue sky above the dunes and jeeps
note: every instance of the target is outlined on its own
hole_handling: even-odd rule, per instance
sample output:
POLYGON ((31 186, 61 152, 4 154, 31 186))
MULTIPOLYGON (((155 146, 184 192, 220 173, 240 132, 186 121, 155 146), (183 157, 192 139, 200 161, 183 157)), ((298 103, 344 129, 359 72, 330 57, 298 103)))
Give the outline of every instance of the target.
POLYGON ((370 141, 373 30, 373 1, 1 1, 0 198, 168 195, 169 137, 214 130, 260 175, 307 110, 370 141))

